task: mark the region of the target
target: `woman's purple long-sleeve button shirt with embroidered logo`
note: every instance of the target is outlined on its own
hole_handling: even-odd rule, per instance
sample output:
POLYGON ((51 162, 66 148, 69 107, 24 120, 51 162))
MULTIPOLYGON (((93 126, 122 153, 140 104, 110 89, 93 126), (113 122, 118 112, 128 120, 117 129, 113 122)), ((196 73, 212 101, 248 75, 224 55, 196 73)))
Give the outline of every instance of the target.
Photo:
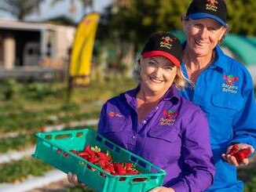
POLYGON ((132 89, 108 100, 98 132, 166 171, 163 186, 176 192, 203 191, 213 183, 214 164, 207 118, 171 87, 155 109, 138 121, 132 89))

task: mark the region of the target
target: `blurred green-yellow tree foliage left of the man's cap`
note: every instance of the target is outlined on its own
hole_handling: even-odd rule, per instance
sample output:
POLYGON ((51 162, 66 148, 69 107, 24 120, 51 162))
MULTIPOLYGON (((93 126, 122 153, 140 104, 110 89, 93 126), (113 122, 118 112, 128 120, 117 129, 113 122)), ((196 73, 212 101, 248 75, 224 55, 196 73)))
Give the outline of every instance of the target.
POLYGON ((109 16, 110 35, 140 45, 155 31, 181 30, 181 15, 185 14, 190 2, 130 0, 130 6, 121 7, 109 16))

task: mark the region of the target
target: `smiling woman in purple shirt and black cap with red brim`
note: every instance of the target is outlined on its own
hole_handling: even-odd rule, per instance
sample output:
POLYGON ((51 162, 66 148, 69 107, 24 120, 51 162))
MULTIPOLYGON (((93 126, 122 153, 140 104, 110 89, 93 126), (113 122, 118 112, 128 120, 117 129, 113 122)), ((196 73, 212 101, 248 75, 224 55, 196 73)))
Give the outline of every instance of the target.
MULTIPOLYGON (((185 87, 180 64, 179 40, 153 34, 135 63, 137 88, 101 110, 101 135, 166 171, 163 187, 150 192, 203 191, 214 179, 207 118, 177 92, 185 87)), ((74 178, 69 174, 71 183, 74 178)))

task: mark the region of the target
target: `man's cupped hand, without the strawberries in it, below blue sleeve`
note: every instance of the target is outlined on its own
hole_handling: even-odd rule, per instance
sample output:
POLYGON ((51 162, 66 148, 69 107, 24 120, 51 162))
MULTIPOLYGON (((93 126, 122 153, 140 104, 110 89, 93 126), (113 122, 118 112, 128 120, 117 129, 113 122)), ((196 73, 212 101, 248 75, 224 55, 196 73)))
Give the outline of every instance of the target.
MULTIPOLYGON (((254 153, 254 147, 251 147, 251 145, 248 144, 243 144, 243 143, 236 143, 236 145, 240 148, 240 149, 249 149, 251 150, 251 153, 254 153)), ((229 164, 231 165, 235 165, 236 167, 239 166, 239 162, 236 161, 236 158, 232 155, 229 154, 229 151, 232 149, 233 145, 229 146, 229 148, 227 149, 226 154, 222 154, 222 158, 225 159, 225 161, 228 161, 229 164)), ((249 159, 248 158, 244 158, 241 162, 243 165, 248 165, 249 163, 249 159)))

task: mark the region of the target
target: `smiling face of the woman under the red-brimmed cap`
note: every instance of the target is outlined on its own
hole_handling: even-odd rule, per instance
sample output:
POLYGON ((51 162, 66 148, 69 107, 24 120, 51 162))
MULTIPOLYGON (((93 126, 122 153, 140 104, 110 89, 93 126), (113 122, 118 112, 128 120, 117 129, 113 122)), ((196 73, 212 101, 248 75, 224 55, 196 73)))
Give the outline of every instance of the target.
POLYGON ((177 66, 163 56, 141 58, 141 89, 153 94, 164 94, 173 84, 177 66))

